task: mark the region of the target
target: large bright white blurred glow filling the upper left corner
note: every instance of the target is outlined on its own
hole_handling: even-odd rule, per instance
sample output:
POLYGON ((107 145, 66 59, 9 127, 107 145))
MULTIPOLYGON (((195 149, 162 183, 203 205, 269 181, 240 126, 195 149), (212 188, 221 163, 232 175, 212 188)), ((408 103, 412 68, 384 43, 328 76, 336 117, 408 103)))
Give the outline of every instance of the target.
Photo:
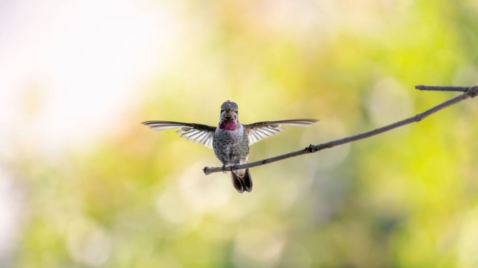
POLYGON ((0 10, 0 148, 50 150, 125 124, 138 89, 184 43, 177 4, 15 0, 0 10))

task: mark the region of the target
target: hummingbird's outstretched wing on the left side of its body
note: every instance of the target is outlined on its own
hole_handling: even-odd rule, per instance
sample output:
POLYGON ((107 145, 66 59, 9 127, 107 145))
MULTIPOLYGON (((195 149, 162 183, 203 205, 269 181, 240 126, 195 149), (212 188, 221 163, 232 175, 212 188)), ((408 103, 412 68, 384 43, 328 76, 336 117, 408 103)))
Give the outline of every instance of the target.
POLYGON ((213 147, 213 137, 216 127, 172 121, 146 121, 141 124, 156 131, 179 129, 176 133, 181 134, 181 137, 202 143, 209 148, 213 147))

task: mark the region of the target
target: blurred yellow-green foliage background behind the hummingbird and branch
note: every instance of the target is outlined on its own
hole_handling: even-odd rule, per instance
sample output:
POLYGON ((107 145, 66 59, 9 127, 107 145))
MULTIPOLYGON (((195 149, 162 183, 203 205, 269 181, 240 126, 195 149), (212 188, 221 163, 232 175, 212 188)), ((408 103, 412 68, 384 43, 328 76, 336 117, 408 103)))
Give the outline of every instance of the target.
POLYGON ((478 84, 478 1, 150 5, 165 3, 186 44, 105 123, 115 131, 53 159, 13 145, 2 165, 24 193, 22 223, 1 267, 478 267, 475 99, 252 168, 242 195, 203 174, 220 166, 211 149, 139 124, 215 126, 228 99, 244 124, 321 120, 252 145, 254 161, 412 116, 457 95, 416 84, 478 84))

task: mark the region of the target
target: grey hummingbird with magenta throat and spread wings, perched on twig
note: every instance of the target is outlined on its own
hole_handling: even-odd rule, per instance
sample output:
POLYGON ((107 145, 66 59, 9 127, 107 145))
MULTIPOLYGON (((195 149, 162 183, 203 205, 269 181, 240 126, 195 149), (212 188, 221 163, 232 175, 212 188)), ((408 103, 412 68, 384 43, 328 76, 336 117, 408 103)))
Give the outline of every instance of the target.
POLYGON ((223 164, 223 172, 226 173, 226 165, 231 165, 231 179, 234 188, 239 193, 243 193, 252 191, 252 177, 249 169, 233 169, 249 162, 249 145, 263 138, 280 134, 284 130, 282 125, 308 127, 318 121, 315 119, 293 119, 243 125, 239 122, 238 116, 237 103, 228 100, 221 105, 217 127, 173 121, 146 121, 141 124, 156 131, 179 129, 176 133, 181 137, 213 148, 216 157, 223 164))

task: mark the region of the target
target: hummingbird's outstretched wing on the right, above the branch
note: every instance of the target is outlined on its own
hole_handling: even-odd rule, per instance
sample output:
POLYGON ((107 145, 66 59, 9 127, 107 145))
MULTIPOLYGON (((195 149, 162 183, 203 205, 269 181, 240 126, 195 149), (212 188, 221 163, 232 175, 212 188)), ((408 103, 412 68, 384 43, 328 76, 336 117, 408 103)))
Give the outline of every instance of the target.
POLYGON ((275 134, 280 134, 284 126, 294 126, 294 127, 308 127, 319 120, 315 119, 293 119, 293 120, 281 120, 281 121, 265 121, 257 122, 249 125, 244 125, 247 138, 249 139, 249 145, 253 144, 263 138, 273 136, 275 134))

